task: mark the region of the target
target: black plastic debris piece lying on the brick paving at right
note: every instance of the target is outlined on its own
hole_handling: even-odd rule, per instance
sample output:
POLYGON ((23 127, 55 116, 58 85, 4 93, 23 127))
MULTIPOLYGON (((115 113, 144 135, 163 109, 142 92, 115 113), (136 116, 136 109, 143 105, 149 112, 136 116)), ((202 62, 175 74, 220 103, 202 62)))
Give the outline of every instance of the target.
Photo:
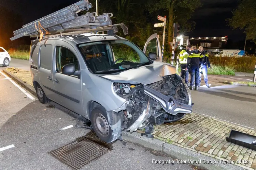
POLYGON ((226 137, 226 140, 228 142, 256 151, 256 136, 231 130, 230 135, 229 137, 226 137))

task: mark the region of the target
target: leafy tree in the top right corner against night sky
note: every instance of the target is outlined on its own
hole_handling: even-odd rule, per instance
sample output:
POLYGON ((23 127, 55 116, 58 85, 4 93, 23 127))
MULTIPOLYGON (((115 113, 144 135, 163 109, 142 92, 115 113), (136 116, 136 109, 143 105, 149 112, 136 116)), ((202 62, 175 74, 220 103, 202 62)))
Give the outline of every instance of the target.
POLYGON ((247 39, 256 43, 256 1, 241 0, 238 8, 233 11, 233 17, 228 19, 229 26, 234 29, 245 29, 247 39))

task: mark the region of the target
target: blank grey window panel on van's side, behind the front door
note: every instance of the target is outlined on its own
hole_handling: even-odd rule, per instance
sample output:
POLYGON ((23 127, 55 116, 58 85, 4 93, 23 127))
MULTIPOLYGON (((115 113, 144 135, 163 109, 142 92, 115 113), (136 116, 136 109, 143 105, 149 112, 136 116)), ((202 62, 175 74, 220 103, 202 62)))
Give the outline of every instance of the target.
POLYGON ((52 45, 42 45, 40 49, 40 66, 47 70, 52 70, 52 45))

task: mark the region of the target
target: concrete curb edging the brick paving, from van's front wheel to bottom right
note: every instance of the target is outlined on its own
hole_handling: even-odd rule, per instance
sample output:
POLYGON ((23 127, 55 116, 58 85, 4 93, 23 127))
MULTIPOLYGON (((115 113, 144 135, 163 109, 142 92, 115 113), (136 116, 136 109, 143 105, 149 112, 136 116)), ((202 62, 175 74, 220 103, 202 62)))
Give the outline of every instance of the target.
MULTIPOLYGON (((221 163, 221 160, 215 159, 213 157, 203 155, 173 144, 169 144, 162 140, 156 138, 147 138, 145 136, 141 136, 138 132, 122 132, 122 137, 124 140, 137 144, 139 146, 143 146, 150 150, 156 150, 162 154, 167 154, 174 159, 186 160, 186 163, 189 164, 189 160, 200 161, 201 164, 191 163, 191 165, 195 165, 198 167, 202 167, 208 170, 244 170, 245 168, 233 165, 233 164, 224 164, 221 163), (213 164, 203 163, 203 160, 212 162, 213 164), (216 162, 214 164, 214 162, 216 162)), ((247 169, 247 168, 246 168, 247 169)), ((248 168, 250 169, 250 168, 248 168)))

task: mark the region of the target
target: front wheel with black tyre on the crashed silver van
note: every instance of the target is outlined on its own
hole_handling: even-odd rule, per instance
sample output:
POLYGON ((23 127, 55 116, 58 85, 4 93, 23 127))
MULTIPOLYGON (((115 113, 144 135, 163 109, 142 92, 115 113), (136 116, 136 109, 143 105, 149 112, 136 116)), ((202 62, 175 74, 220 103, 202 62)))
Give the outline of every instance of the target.
POLYGON ((108 115, 106 114, 106 109, 103 106, 97 106, 91 111, 91 125, 93 126, 93 130, 96 135, 103 140, 104 142, 110 143, 119 138, 121 134, 121 128, 118 133, 113 133, 111 126, 109 125, 108 115), (98 120, 97 120, 98 119, 98 120), (103 134, 101 131, 103 129, 99 129, 100 126, 99 120, 102 120, 104 127, 103 129, 108 130, 108 134, 103 134), (106 122, 105 122, 106 121, 106 122), (97 122, 97 123, 96 123, 97 122))

